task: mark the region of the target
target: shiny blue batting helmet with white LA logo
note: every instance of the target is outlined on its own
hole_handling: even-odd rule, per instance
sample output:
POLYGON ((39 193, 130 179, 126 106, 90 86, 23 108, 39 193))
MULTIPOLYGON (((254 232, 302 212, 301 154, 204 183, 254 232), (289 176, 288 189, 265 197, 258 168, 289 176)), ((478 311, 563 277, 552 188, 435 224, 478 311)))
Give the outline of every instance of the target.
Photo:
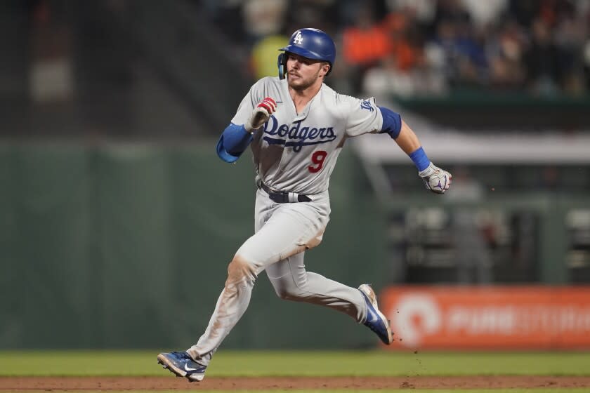
MULTIPOLYGON (((308 59, 329 62, 330 69, 328 74, 332 72, 334 60, 336 60, 336 45, 334 45, 334 41, 332 41, 328 34, 318 29, 308 28, 297 30, 291 35, 289 45, 280 48, 279 51, 295 53, 308 59)), ((278 59, 280 79, 284 78, 286 65, 287 56, 281 53, 278 59)))

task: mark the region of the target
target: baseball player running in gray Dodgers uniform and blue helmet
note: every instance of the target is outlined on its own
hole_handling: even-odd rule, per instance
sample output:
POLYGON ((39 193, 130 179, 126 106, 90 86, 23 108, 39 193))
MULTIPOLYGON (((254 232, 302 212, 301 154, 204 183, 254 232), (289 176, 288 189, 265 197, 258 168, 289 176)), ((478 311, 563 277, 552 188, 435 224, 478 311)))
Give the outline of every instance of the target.
POLYGON ((244 97, 217 144, 232 163, 251 147, 256 168, 255 234, 235 253, 215 311, 197 344, 158 354, 164 368, 190 381, 204 378, 211 357, 246 311, 263 270, 282 299, 323 305, 393 341, 368 284, 351 288, 306 271, 305 251, 320 244, 329 221, 329 178, 344 142, 365 133, 388 133, 418 169, 426 188, 442 194, 451 175, 426 156, 399 114, 336 93, 325 85, 334 67, 334 41, 321 30, 299 29, 281 48, 279 76, 258 80, 244 97))

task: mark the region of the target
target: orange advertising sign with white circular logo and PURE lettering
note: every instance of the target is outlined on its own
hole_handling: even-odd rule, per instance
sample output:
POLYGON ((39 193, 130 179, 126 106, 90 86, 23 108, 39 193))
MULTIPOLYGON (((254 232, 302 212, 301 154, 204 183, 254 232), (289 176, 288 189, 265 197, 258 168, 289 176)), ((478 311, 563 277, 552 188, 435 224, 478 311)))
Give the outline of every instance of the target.
POLYGON ((590 287, 386 288, 392 349, 590 348, 590 287))

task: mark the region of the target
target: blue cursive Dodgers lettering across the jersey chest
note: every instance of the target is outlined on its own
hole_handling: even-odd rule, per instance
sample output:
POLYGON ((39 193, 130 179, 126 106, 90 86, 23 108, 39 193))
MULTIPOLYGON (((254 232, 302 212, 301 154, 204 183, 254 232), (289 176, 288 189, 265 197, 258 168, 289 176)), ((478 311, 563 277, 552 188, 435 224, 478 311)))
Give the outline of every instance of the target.
POLYGON ((294 152, 301 152, 301 147, 332 142, 336 139, 334 127, 301 127, 302 121, 296 121, 289 128, 289 124, 279 124, 275 116, 264 124, 264 140, 269 145, 284 145, 293 147, 294 152))

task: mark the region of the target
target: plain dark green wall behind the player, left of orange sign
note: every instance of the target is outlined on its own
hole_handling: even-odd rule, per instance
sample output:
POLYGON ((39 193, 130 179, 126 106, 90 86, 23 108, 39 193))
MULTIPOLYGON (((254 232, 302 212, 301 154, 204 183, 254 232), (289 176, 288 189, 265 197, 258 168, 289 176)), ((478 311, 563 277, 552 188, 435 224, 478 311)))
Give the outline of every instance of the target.
MULTIPOLYGON (((202 145, 0 145, 0 348, 184 349, 204 331, 226 267, 254 230, 251 154, 202 145)), ((352 154, 310 271, 384 281, 379 208, 352 154), (360 187, 359 187, 360 185, 360 187)), ((276 297, 265 274, 223 346, 365 347, 349 317, 276 297)))

